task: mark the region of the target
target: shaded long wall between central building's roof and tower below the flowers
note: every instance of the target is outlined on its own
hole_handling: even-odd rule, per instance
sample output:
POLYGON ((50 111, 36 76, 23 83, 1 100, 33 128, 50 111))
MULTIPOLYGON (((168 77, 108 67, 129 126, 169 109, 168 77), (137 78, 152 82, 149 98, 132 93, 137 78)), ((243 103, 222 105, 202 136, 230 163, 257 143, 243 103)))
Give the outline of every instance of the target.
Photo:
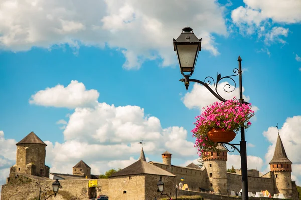
MULTIPOLYGON (((168 166, 165 164, 154 163, 155 166, 168 171, 168 166)), ((190 190, 199 191, 200 188, 208 188, 209 180, 206 170, 192 169, 186 167, 178 167, 171 165, 170 171, 176 176, 176 184, 179 185, 180 182, 187 184, 190 190), (184 178, 184 181, 181 181, 184 178)))

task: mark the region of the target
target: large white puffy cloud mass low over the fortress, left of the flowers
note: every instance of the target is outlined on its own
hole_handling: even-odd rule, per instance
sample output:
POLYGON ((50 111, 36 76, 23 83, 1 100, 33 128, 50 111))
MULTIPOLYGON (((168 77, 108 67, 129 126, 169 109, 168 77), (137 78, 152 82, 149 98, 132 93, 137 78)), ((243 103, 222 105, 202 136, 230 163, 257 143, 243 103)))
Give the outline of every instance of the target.
POLYGON ((32 96, 31 101, 39 105, 81 106, 67 116, 68 121, 57 121, 64 125, 64 143, 45 141, 46 163, 51 164, 52 172, 71 173, 72 167, 81 159, 95 166, 92 168, 95 174, 104 173, 111 167, 123 168, 139 158, 141 145, 138 143, 141 140, 146 155, 160 155, 169 150, 175 158, 197 156, 197 149, 193 142, 187 141, 187 131, 183 127, 163 128, 160 120, 146 115, 143 108, 101 103, 97 101, 98 95, 96 90, 86 90, 83 83, 72 81, 67 87, 46 88, 32 96), (48 96, 55 97, 49 99, 48 96), (63 97, 56 98, 59 96, 63 97), (71 101, 73 104, 70 105, 71 101))

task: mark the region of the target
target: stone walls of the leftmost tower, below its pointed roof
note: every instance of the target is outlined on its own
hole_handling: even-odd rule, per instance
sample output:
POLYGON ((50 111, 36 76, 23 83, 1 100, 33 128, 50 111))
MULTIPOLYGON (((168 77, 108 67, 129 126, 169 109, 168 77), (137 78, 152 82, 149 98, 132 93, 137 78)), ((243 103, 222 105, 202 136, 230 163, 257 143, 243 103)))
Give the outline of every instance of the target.
POLYGON ((38 176, 49 176, 45 168, 46 149, 42 144, 18 144, 16 170, 19 173, 26 173, 26 165, 36 165, 34 174, 38 176))

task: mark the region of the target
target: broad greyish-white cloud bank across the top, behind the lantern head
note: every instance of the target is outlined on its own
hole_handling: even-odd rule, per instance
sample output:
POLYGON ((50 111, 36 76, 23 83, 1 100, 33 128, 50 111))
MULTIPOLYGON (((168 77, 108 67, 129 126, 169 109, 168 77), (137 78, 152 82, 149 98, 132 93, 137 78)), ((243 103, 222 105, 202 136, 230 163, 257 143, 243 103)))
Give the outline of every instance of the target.
POLYGON ((3 0, 0 47, 20 51, 33 46, 107 45, 124 54, 124 68, 138 69, 155 58, 167 66, 175 61, 172 38, 187 25, 203 37, 203 49, 217 55, 212 33, 226 35, 224 9, 216 0, 3 0))

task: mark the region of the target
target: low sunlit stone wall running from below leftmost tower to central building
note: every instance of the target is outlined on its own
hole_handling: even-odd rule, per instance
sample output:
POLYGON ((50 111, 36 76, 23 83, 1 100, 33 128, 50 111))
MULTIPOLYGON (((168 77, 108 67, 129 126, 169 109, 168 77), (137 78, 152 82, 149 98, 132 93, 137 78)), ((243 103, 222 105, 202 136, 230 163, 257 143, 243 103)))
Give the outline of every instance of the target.
MULTIPOLYGON (((1 200, 34 200, 39 197, 39 189, 41 187, 42 194, 47 191, 47 195, 52 194, 53 180, 39 178, 35 176, 16 174, 17 177, 10 177, 8 184, 2 186, 1 200)), ((98 195, 108 195, 108 179, 98 179, 98 187, 96 187, 98 195)), ((55 199, 87 199, 88 198, 88 179, 81 180, 59 180, 62 188, 59 191, 58 198, 55 199)), ((49 198, 54 199, 54 198, 49 198)))

